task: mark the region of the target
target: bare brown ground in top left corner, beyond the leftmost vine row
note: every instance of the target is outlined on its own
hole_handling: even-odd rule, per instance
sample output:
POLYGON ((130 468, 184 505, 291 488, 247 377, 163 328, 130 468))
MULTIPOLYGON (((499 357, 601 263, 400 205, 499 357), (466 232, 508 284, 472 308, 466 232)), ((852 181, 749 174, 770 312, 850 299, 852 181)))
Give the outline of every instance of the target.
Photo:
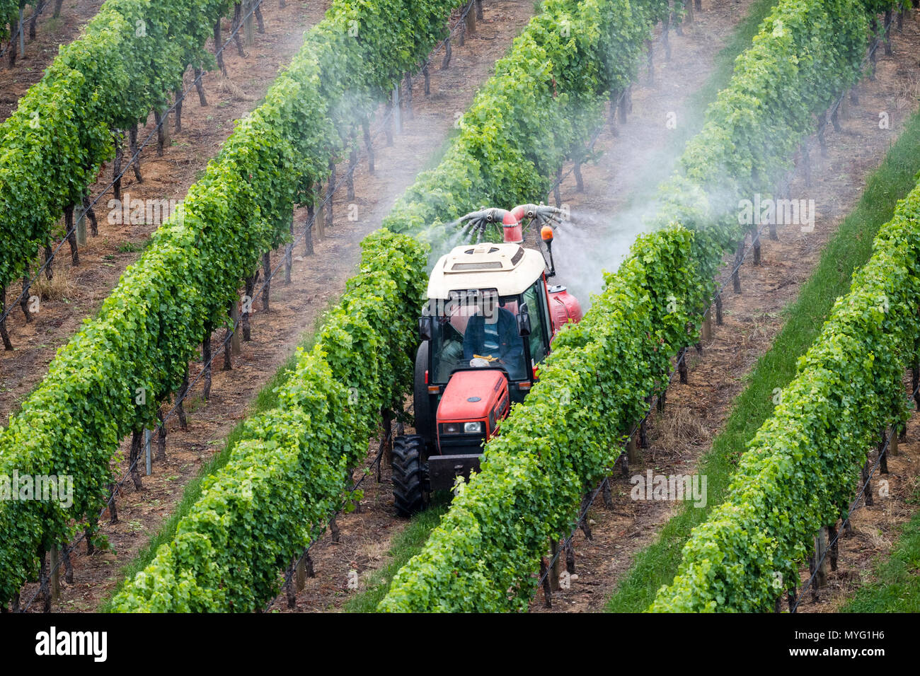
MULTIPOLYGON (((83 27, 98 14, 105 0, 68 0, 61 6, 61 16, 54 18, 53 3, 41 12, 35 30, 35 40, 29 40, 26 22, 26 52, 17 56, 16 65, 9 68, 6 54, 0 60, 0 121, 16 109, 17 102, 30 86, 37 83, 57 56, 59 45, 76 40, 83 27)), ((26 18, 31 17, 30 8, 26 18)))

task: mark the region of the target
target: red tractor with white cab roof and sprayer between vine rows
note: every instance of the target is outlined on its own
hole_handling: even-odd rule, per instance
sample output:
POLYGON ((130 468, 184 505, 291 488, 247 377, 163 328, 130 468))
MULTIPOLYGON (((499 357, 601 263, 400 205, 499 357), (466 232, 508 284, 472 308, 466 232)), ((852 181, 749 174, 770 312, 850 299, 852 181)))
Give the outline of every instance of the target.
POLYGON ((581 321, 578 300, 547 283, 556 274, 551 223, 560 213, 525 204, 467 214, 461 223, 479 238, 500 223, 504 242, 456 246, 431 270, 415 360, 416 433, 393 441, 400 515, 423 509, 431 491, 478 471, 484 442, 535 384, 558 330, 581 321), (525 219, 541 227, 548 264, 522 246, 525 219))

